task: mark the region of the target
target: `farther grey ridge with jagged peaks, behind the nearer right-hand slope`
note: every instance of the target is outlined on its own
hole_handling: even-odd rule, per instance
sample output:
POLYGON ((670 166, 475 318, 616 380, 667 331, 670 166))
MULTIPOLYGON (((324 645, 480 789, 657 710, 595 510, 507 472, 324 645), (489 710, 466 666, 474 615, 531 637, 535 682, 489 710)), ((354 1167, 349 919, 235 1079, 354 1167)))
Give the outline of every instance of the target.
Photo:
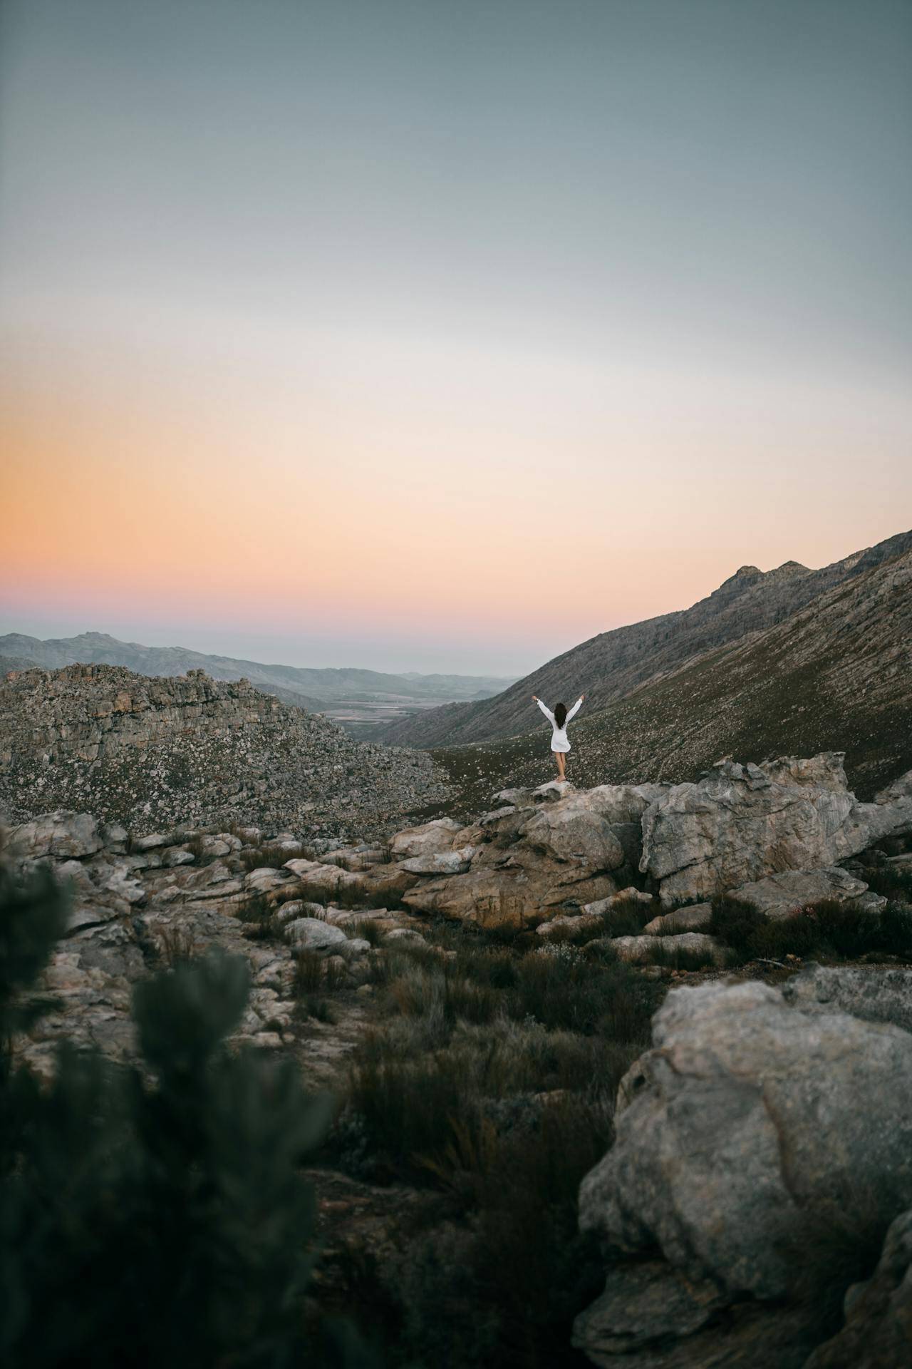
POLYGON ((602 632, 555 657, 495 698, 401 719, 375 734, 405 746, 453 746, 528 731, 531 694, 550 704, 587 694, 587 712, 604 708, 647 680, 747 634, 782 623, 840 585, 849 585, 885 561, 912 550, 912 531, 811 571, 786 561, 774 571, 742 565, 719 589, 689 609, 602 632))

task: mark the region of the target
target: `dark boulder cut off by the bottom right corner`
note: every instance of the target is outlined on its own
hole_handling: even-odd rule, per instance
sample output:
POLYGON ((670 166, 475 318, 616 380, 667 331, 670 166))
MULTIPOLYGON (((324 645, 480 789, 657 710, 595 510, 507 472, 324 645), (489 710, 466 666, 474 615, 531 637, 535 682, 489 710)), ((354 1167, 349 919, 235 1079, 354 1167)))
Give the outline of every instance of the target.
POLYGON ((805 1369, 901 1369, 912 1364, 912 1209, 891 1224, 874 1276, 845 1296, 845 1325, 805 1369))

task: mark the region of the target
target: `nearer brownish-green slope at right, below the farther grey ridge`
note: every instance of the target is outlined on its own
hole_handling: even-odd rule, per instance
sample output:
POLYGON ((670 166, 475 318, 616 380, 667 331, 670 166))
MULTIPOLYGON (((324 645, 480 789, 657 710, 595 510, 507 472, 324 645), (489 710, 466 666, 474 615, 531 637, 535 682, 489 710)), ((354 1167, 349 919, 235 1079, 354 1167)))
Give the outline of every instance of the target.
MULTIPOLYGON (((870 798, 912 767, 912 550, 581 715, 572 732, 567 778, 580 786, 692 780, 730 754, 760 763, 841 750, 852 786, 870 798)), ((552 771, 547 727, 431 754, 466 810, 492 789, 552 771)))

